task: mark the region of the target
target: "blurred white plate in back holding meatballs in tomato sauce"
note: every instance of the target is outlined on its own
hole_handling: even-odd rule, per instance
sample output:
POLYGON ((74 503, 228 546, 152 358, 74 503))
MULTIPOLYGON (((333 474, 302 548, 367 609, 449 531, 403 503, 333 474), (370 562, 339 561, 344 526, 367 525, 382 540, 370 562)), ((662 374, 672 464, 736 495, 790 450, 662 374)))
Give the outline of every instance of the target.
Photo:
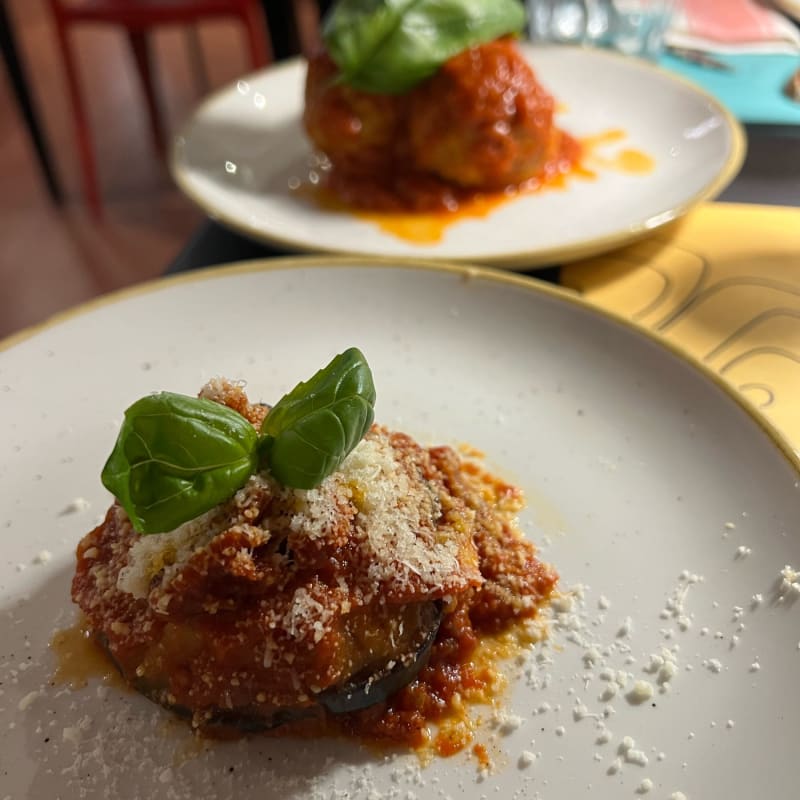
POLYGON ((600 167, 564 191, 524 195, 485 219, 453 224, 441 242, 414 244, 372 222, 325 210, 292 192, 307 176, 310 145, 300 116, 305 66, 267 69, 214 95, 178 137, 172 172, 208 214, 255 239, 305 251, 416 256, 511 267, 564 262, 646 234, 714 197, 744 157, 739 124, 710 95, 635 59, 597 50, 524 45, 577 137, 623 131, 622 149, 655 160, 648 174, 600 167))

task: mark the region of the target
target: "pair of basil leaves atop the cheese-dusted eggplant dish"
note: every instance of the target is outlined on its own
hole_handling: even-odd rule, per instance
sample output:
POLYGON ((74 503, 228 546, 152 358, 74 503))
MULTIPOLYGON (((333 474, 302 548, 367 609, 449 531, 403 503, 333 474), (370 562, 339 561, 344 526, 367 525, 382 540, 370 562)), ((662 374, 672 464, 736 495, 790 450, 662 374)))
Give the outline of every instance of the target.
POLYGON ((126 412, 101 475, 139 533, 161 533, 227 500, 266 467, 285 486, 312 489, 341 465, 373 420, 375 386, 350 348, 298 384, 261 432, 211 400, 171 392, 126 412))

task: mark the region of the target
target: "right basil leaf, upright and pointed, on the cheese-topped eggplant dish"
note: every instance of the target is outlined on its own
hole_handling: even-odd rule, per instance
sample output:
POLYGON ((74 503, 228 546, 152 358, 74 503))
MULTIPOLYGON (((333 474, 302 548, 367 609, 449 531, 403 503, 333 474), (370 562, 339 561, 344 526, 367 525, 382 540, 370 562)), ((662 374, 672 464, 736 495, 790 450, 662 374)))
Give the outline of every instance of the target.
POLYGON ((375 386, 355 347, 281 398, 261 426, 277 481, 313 489, 341 465, 372 425, 375 386))

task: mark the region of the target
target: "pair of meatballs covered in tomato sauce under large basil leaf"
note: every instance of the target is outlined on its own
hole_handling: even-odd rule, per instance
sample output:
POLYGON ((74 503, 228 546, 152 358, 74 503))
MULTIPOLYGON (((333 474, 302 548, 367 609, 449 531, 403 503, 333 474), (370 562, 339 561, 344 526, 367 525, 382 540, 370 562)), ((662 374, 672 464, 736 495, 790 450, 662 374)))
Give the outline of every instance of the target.
POLYGON ((403 95, 336 76, 328 54, 310 59, 304 123, 330 160, 328 188, 346 205, 450 212, 475 192, 562 168, 554 100, 510 38, 459 53, 403 95))

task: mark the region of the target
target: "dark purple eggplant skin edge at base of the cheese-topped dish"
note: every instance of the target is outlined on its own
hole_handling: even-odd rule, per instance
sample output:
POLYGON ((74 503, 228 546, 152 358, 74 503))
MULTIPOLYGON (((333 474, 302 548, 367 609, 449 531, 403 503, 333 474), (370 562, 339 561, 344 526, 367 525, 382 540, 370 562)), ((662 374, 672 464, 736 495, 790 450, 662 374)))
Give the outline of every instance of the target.
MULTIPOLYGON (((283 725, 302 720, 317 719, 322 721, 326 715, 347 714, 361 711, 369 706, 386 701, 395 692, 407 686, 417 677, 420 670, 428 663, 431 648, 439 632, 443 608, 440 601, 423 603, 419 610, 419 627, 414 637, 412 650, 396 654, 383 667, 364 670, 350 676, 339 686, 333 686, 316 695, 317 703, 311 706, 277 708, 265 714, 263 709, 211 708, 205 712, 202 728, 207 731, 231 730, 240 733, 262 733, 275 730, 283 725)), ((96 634, 100 647, 108 654, 133 689, 148 700, 163 706, 177 716, 191 720, 194 712, 177 703, 171 703, 168 692, 161 686, 155 686, 140 678, 130 680, 122 671, 108 646, 108 639, 101 632, 96 634)))

